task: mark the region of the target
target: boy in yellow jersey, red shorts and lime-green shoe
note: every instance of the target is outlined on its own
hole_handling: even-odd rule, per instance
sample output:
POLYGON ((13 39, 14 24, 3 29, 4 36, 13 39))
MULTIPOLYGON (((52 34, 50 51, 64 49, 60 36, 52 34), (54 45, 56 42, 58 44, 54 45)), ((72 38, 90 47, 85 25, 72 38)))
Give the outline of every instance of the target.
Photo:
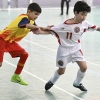
POLYGON ((37 3, 31 3, 27 8, 26 14, 19 15, 4 30, 0 31, 0 67, 2 66, 4 52, 8 52, 12 58, 20 57, 17 68, 11 78, 12 82, 28 85, 20 78, 28 53, 17 42, 31 30, 39 29, 39 26, 35 24, 35 20, 41 11, 41 7, 37 3))

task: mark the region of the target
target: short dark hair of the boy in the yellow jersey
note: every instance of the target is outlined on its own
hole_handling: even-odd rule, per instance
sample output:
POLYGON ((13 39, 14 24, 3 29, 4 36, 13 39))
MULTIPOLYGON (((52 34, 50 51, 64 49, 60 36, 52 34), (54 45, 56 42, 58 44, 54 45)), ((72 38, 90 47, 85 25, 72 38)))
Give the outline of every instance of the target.
POLYGON ((31 12, 36 11, 38 13, 42 12, 41 7, 35 2, 29 4, 27 10, 30 10, 31 12))

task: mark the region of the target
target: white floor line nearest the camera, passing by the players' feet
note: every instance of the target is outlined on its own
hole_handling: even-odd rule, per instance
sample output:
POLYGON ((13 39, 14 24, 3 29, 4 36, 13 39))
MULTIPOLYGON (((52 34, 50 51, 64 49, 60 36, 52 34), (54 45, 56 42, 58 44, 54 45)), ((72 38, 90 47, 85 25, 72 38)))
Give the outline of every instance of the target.
MULTIPOLYGON (((12 64, 12 63, 10 63, 10 62, 8 62, 8 61, 6 61, 6 60, 4 60, 4 62, 7 63, 7 64, 9 64, 9 65, 11 65, 11 66, 13 66, 13 67, 16 67, 14 64, 12 64)), ((25 73, 27 73, 27 74, 29 74, 29 75, 31 75, 31 76, 33 76, 33 77, 35 77, 35 78, 41 80, 42 82, 46 83, 46 81, 43 80, 42 78, 40 78, 40 77, 38 77, 38 76, 36 76, 36 75, 34 75, 34 74, 32 74, 32 73, 26 71, 26 70, 23 70, 23 72, 25 72, 25 73)), ((70 93, 70 92, 67 92, 67 91, 61 89, 60 87, 58 87, 58 86, 56 86, 56 85, 54 85, 54 87, 57 88, 58 90, 64 92, 64 93, 67 93, 68 95, 71 95, 72 97, 74 97, 74 98, 76 98, 76 99, 78 99, 78 100, 84 100, 84 99, 79 98, 78 96, 76 96, 76 95, 74 95, 74 94, 72 94, 72 93, 70 93)))

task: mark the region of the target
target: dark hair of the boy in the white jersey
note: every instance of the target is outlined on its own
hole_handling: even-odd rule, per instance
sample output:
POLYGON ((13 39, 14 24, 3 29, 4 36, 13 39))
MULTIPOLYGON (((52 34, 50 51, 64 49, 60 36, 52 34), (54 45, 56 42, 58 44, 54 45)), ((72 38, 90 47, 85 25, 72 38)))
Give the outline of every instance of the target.
POLYGON ((91 7, 85 1, 78 1, 74 5, 74 13, 79 12, 91 12, 91 7))

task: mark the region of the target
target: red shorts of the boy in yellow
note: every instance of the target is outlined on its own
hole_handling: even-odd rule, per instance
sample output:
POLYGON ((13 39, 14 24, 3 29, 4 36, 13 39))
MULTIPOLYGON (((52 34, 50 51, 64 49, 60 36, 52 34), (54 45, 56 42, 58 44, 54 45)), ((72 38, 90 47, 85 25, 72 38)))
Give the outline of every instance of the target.
POLYGON ((26 51, 18 43, 9 43, 0 37, 0 62, 3 61, 4 52, 8 52, 14 58, 26 51))

